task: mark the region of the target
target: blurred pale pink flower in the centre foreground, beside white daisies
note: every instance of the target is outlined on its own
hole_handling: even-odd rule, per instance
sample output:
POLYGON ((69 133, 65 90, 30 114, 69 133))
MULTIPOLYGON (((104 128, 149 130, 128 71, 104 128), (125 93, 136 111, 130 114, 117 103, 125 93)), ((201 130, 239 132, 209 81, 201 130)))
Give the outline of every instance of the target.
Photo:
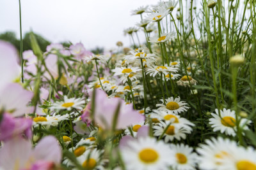
MULTIPOLYGON (((92 96, 92 95, 91 95, 92 96)), ((120 104, 116 129, 124 129, 129 125, 140 123, 145 117, 133 110, 132 104, 125 104, 120 98, 108 98, 106 92, 96 89, 94 120, 100 127, 111 129, 116 108, 120 104)))

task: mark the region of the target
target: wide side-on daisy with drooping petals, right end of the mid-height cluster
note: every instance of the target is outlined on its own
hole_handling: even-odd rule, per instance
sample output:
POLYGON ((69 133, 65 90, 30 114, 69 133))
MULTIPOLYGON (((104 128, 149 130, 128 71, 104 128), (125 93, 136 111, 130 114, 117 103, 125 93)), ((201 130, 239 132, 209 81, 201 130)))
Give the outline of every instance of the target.
POLYGON ((156 76, 157 74, 168 74, 168 73, 177 73, 178 69, 173 68, 173 67, 168 67, 168 66, 153 66, 153 67, 148 67, 146 69, 146 73, 149 74, 150 76, 156 76))

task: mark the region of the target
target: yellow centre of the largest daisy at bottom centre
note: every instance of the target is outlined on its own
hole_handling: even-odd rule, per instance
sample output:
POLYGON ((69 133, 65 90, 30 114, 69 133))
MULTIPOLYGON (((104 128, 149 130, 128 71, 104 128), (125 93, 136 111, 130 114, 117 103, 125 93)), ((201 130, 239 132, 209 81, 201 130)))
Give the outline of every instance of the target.
POLYGON ((156 150, 151 148, 145 148, 139 153, 140 160, 146 164, 156 162, 159 155, 156 150))

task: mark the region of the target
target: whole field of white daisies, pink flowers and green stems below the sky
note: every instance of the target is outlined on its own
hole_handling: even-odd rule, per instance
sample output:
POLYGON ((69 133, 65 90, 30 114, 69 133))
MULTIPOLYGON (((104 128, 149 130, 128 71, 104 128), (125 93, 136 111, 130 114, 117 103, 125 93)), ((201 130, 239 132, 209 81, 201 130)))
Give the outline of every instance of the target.
POLYGON ((256 2, 189 2, 109 52, 0 40, 0 170, 256 170, 256 2))

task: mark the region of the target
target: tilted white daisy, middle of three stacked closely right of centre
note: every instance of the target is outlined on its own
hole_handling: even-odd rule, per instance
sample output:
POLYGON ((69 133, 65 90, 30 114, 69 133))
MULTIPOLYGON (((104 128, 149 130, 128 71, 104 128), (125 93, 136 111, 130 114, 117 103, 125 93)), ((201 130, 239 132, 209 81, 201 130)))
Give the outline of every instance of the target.
POLYGON ((157 118, 157 120, 164 120, 166 124, 176 124, 180 127, 186 127, 189 131, 193 131, 191 128, 195 126, 192 122, 187 120, 186 118, 182 118, 179 115, 175 115, 173 113, 168 113, 166 111, 153 110, 154 113, 150 114, 151 118, 157 118))

